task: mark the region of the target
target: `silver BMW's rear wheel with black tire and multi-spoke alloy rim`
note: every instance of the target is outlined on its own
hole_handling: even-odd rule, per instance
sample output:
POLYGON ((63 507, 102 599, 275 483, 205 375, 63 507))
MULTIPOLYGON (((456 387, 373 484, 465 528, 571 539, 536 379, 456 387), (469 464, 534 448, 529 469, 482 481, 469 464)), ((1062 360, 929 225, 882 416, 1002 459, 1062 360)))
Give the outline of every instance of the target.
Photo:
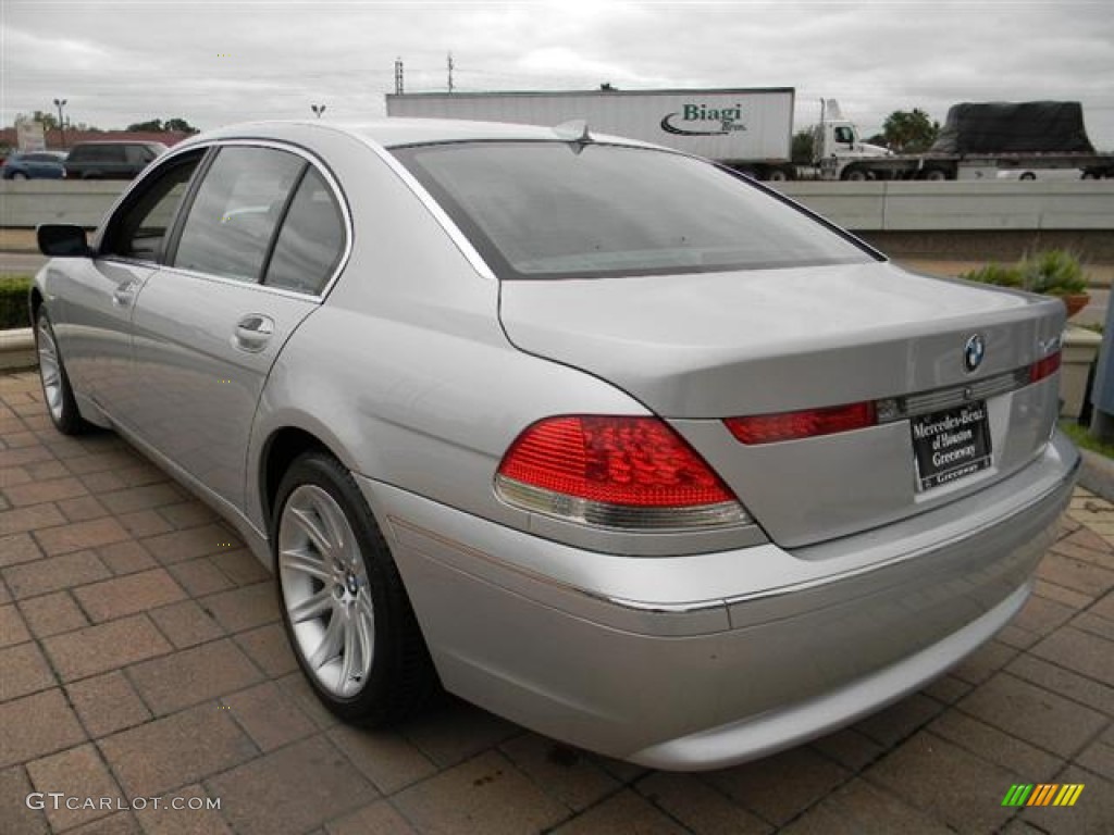
POLYGON ((283 623, 317 698, 345 721, 419 710, 437 674, 402 578, 351 473, 313 451, 278 487, 271 542, 283 623))

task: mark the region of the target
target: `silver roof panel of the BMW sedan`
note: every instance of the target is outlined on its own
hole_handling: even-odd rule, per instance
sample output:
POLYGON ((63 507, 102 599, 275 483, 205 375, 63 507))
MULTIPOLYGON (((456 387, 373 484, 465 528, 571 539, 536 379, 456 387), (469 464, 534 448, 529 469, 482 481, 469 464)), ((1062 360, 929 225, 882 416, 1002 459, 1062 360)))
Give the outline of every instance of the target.
MULTIPOLYGON (((385 148, 398 148, 407 145, 424 145, 460 141, 512 141, 512 140, 565 140, 571 137, 567 132, 558 132, 555 127, 536 125, 510 125, 494 121, 466 121, 462 119, 377 119, 352 122, 322 122, 319 120, 294 121, 256 121, 241 125, 229 125, 216 130, 190 137, 187 144, 205 143, 206 140, 256 138, 284 139, 304 128, 317 128, 350 134, 370 139, 385 148)), ((589 131, 592 126, 588 126, 589 131)), ((595 139, 606 139, 625 145, 657 147, 634 139, 592 134, 595 139)))

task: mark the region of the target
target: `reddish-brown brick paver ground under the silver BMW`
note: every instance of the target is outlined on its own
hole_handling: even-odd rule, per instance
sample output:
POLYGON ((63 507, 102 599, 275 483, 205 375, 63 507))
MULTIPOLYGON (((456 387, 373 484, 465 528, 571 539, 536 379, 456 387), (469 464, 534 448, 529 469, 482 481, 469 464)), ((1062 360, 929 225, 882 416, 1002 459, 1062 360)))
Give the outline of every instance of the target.
POLYGON ((987 647, 737 768, 648 772, 451 699, 368 731, 314 700, 270 577, 213 513, 111 433, 55 432, 33 374, 0 376, 0 833, 1112 833, 1112 543, 1114 505, 1081 490, 987 647), (1017 783, 1085 789, 1004 808, 1017 783))

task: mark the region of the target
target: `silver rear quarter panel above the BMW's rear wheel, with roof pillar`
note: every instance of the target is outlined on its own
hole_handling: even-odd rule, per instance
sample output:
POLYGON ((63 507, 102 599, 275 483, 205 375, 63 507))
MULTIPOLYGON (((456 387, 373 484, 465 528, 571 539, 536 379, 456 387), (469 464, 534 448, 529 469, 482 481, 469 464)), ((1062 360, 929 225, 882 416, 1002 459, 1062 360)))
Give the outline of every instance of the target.
POLYGON ((645 410, 595 377, 514 348, 498 321, 498 282, 477 271, 399 174, 353 137, 311 138, 344 189, 353 250, 267 380, 248 451, 253 524, 267 528, 267 441, 296 426, 353 472, 528 528, 528 514, 499 502, 492 487, 518 433, 547 414, 645 410))

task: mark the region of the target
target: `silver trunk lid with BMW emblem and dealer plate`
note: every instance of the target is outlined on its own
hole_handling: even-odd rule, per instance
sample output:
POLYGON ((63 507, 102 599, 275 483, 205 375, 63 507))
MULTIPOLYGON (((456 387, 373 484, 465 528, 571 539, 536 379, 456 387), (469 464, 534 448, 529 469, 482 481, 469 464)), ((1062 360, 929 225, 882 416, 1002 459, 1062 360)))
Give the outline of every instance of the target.
POLYGON ((1043 449, 1057 411, 1056 375, 1029 374, 1058 351, 1058 302, 886 263, 504 282, 501 320, 520 350, 670 421, 786 547, 998 481, 1043 449), (976 335, 985 352, 968 370, 976 335), (856 403, 878 424, 747 444, 724 423, 856 403))

